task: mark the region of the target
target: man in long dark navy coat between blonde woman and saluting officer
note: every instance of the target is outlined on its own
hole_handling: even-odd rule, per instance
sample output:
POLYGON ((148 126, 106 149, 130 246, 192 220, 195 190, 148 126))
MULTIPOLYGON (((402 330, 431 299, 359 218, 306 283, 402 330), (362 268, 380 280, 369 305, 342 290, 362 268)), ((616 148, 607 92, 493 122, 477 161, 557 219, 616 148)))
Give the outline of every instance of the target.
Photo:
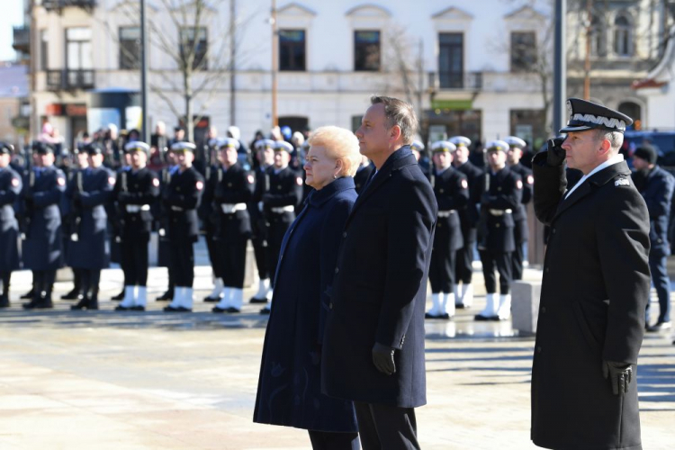
POLYGON ((412 106, 374 96, 356 130, 377 168, 347 218, 330 289, 322 392, 355 401, 361 443, 419 448, 424 312, 437 204, 410 151, 412 106))

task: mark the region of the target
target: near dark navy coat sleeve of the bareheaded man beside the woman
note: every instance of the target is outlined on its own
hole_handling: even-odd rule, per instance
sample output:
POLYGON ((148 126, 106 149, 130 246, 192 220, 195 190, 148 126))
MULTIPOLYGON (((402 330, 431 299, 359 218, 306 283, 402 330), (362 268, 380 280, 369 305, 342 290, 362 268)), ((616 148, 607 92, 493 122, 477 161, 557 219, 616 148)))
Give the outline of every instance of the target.
POLYGON ((436 225, 437 206, 426 180, 399 186, 387 218, 387 259, 383 304, 375 341, 401 349, 415 310, 415 296, 427 271, 426 255, 436 225))

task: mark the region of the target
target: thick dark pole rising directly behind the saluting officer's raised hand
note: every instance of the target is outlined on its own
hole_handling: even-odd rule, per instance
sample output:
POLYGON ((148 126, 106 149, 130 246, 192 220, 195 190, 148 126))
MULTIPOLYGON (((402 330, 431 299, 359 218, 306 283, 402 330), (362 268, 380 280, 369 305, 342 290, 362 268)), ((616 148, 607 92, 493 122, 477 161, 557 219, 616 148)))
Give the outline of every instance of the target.
POLYGON ((554 131, 563 128, 565 97, 567 94, 567 61, 565 53, 565 25, 567 0, 555 0, 554 39, 554 131))

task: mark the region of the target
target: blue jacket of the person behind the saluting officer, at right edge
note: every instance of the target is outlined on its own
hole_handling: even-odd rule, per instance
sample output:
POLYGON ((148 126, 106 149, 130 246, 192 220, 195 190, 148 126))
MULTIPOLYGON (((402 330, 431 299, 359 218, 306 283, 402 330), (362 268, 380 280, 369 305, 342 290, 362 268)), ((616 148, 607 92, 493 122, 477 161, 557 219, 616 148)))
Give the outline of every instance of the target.
POLYGON ((641 192, 649 211, 649 240, 652 244, 650 255, 666 257, 671 254, 668 240, 668 220, 671 217, 671 201, 675 177, 654 166, 644 181, 641 192))

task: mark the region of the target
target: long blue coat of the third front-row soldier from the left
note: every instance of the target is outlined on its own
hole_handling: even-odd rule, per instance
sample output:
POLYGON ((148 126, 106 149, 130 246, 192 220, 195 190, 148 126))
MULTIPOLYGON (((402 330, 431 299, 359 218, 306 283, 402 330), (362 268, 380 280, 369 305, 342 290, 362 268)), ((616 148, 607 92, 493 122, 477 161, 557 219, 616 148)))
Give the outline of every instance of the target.
POLYGON ((96 270, 110 265, 105 205, 112 197, 114 184, 112 171, 103 166, 78 170, 68 182, 66 197, 70 241, 67 266, 96 270))

